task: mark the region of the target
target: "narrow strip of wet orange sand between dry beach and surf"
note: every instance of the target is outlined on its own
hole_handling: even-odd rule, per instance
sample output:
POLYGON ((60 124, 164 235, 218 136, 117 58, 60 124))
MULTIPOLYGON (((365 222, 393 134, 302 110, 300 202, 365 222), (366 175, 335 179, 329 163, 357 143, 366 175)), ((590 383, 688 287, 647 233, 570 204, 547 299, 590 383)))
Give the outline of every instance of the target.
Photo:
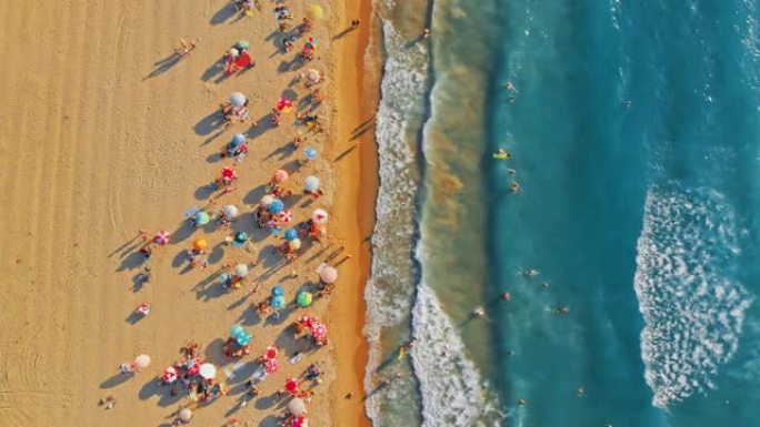
POLYGON ((334 336, 333 362, 338 373, 330 385, 330 418, 336 426, 369 427, 371 423, 362 398, 369 357, 369 344, 363 336, 364 285, 370 275, 369 238, 374 228, 379 189, 373 120, 379 102, 380 59, 367 63, 373 24, 371 0, 343 1, 341 19, 333 26, 333 32, 340 34, 350 28, 354 17, 362 23, 354 34, 358 37, 349 32, 346 42, 334 48, 336 110, 340 119, 333 125, 329 151, 333 161, 342 160, 333 164, 337 176, 342 179, 342 191, 336 196, 333 210, 342 225, 339 238, 344 242, 347 253, 354 257, 351 270, 343 274, 342 292, 336 292, 330 302, 330 308, 341 309, 333 312, 338 322, 333 322, 332 315, 328 318, 334 336), (346 398, 349 393, 353 394, 351 399, 346 398))

